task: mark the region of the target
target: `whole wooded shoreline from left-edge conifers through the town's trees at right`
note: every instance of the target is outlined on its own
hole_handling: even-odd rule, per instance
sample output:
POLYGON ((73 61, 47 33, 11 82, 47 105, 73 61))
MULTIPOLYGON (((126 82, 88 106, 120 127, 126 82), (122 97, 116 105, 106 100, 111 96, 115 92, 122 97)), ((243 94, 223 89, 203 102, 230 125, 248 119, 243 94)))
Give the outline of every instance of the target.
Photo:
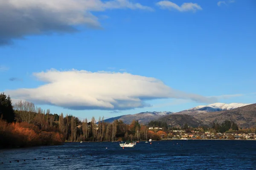
POLYGON ((115 120, 112 123, 104 122, 104 117, 99 117, 97 121, 94 116, 90 121, 79 120, 73 115, 52 114, 49 109, 38 108, 32 102, 19 101, 13 105, 10 96, 0 94, 0 148, 80 141, 161 140, 177 136, 180 133, 177 133, 177 130, 182 130, 182 133, 186 133, 185 136, 196 132, 196 136, 200 139, 205 131, 224 133, 235 130, 239 132, 239 127, 231 121, 224 121, 221 125, 213 123, 210 128, 189 127, 186 123, 180 127, 171 127, 166 122, 159 121, 141 125, 138 120, 133 120, 130 125, 127 125, 122 120, 115 120))

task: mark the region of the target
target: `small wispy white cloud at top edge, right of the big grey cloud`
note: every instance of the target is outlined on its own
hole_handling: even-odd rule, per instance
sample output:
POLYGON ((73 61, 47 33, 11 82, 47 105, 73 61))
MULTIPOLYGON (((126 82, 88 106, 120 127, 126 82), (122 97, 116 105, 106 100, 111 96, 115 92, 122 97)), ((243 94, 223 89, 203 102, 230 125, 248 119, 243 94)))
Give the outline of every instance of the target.
POLYGON ((162 0, 157 3, 157 6, 160 6, 161 8, 166 8, 169 10, 176 9, 180 12, 185 12, 185 11, 197 11, 197 10, 202 10, 201 6, 198 5, 197 3, 183 3, 181 6, 178 6, 176 3, 173 3, 168 0, 162 0))

